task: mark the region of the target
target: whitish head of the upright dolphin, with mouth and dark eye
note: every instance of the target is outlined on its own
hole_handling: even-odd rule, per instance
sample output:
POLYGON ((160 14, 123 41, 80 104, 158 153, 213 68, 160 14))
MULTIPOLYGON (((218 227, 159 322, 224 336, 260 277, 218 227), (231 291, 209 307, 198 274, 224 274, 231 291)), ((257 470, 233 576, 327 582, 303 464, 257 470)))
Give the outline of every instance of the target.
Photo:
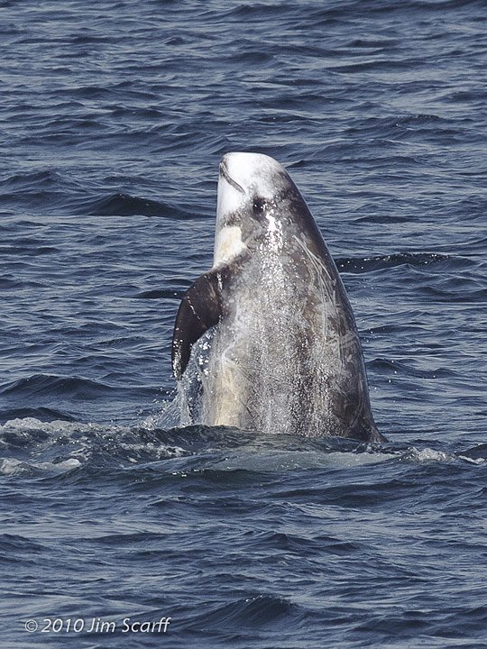
POLYGON ((279 162, 262 153, 227 153, 220 162, 216 203, 215 264, 258 245, 283 245, 303 198, 279 162))

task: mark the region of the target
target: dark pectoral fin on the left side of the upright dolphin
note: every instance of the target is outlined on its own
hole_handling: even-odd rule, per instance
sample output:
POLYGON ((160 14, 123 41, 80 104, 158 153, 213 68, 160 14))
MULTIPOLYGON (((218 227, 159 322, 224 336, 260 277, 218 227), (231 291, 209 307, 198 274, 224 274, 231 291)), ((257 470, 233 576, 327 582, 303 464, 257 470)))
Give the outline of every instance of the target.
POLYGON ((179 305, 172 334, 172 371, 180 379, 188 365, 191 347, 222 317, 222 275, 210 271, 188 288, 179 305))

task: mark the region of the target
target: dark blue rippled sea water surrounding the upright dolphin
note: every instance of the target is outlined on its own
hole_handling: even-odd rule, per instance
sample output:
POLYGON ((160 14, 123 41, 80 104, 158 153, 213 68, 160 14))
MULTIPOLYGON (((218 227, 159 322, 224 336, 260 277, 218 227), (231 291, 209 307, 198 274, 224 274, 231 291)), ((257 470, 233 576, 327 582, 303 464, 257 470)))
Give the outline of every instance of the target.
POLYGON ((485 4, 10 0, 0 38, 0 645, 487 646, 485 4), (343 271, 382 448, 175 427, 242 150, 343 271))

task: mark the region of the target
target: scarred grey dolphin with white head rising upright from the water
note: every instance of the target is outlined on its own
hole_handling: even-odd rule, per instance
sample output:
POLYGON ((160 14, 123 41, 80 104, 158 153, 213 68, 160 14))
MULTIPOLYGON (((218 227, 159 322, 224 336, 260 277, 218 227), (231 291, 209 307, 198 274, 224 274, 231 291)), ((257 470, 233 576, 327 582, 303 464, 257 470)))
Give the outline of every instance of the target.
POLYGON ((176 379, 211 328, 198 423, 384 441, 345 287, 298 188, 266 155, 220 163, 214 264, 179 306, 176 379))

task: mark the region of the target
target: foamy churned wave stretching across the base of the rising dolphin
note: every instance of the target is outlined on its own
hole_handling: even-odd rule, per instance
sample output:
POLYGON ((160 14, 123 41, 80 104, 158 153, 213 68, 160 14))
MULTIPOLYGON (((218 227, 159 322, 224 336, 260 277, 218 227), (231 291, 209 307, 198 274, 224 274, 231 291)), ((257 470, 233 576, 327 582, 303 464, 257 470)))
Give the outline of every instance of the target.
MULTIPOLYGON (((487 462, 487 444, 468 449, 377 446, 341 438, 261 435, 223 426, 170 428, 170 420, 169 403, 157 418, 148 417, 132 426, 42 422, 33 417, 9 420, 0 425, 0 473, 74 472, 83 479, 95 471, 113 474, 116 480, 142 482, 192 475, 233 483, 244 476, 245 481, 253 481, 255 475, 289 471, 362 471, 368 467, 373 471, 374 465, 384 462, 487 462)), ((317 486, 319 481, 313 489, 317 486)), ((357 498, 358 491, 353 485, 350 489, 350 498, 357 498)), ((328 497, 335 498, 332 493, 328 497)), ((336 497, 345 498, 345 493, 336 497)))

